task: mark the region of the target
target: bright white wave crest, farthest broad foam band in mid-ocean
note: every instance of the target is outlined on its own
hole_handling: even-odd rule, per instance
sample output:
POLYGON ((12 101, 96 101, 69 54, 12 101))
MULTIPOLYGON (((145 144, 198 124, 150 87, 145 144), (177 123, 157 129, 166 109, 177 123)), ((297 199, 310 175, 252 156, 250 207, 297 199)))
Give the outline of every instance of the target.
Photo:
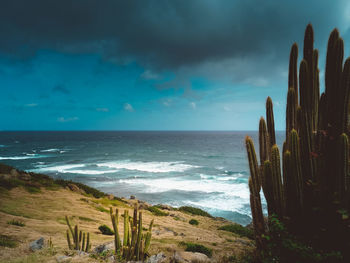
POLYGON ((99 163, 97 166, 114 169, 136 170, 149 173, 184 172, 189 169, 199 167, 184 164, 182 162, 130 162, 128 160, 99 163))

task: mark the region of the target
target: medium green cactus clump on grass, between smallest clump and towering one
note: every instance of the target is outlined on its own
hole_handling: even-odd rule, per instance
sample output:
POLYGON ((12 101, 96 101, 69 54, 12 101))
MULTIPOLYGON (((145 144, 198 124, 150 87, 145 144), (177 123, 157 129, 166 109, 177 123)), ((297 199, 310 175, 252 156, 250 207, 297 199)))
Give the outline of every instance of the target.
POLYGON ((152 237, 153 220, 151 221, 147 232, 143 233, 142 212, 138 212, 137 205, 134 207, 133 217, 129 216, 129 211, 124 210, 124 233, 123 242, 120 239, 118 223, 119 210, 115 214, 110 208, 110 215, 114 230, 115 254, 121 256, 126 261, 143 261, 148 256, 148 251, 152 237))

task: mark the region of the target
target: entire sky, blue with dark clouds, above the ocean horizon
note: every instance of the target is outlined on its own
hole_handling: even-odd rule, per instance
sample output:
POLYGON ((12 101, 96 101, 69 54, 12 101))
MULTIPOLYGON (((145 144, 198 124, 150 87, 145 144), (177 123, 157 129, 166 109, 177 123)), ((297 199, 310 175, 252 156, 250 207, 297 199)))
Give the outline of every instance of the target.
POLYGON ((308 23, 322 89, 346 0, 1 0, 0 130, 283 130, 308 23))

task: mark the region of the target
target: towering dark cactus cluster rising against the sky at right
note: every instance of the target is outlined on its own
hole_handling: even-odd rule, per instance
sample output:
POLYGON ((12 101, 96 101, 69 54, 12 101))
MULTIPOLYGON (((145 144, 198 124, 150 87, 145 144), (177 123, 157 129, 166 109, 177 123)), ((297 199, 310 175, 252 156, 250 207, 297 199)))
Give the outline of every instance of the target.
POLYGON ((327 248, 350 248, 350 58, 343 63, 344 43, 334 29, 328 41, 325 91, 320 95, 318 51, 313 42, 309 24, 299 75, 298 46, 291 48, 282 161, 270 97, 266 101, 267 123, 264 118, 259 123, 260 165, 252 139, 245 139, 258 247, 264 246, 261 237, 268 231, 260 203, 262 187, 269 216, 277 215, 290 231, 327 248))

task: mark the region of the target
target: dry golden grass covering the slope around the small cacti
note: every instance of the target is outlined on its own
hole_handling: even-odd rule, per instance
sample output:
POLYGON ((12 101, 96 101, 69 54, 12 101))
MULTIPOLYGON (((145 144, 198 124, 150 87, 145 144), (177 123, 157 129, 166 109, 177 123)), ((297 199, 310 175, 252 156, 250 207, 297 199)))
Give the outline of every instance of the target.
MULTIPOLYGON (((102 224, 112 227, 109 213, 96 207, 105 210, 113 207, 113 209, 120 209, 121 212, 129 209, 129 214, 132 214, 132 206, 121 201, 86 197, 63 188, 54 191, 42 188, 41 192, 36 194, 28 193, 21 187, 2 192, 0 195, 0 231, 3 235, 18 240, 19 244, 17 248, 0 247, 0 263, 54 260, 55 256, 46 253, 45 250, 38 253, 31 253, 28 250, 29 242, 39 237, 44 237, 46 240, 51 237, 58 254, 64 254, 67 249, 65 215, 70 217, 72 224, 79 224, 80 229, 90 232, 92 247, 112 241, 113 236, 102 235, 98 230, 102 224), (7 222, 10 220, 20 220, 25 223, 25 226, 9 225, 7 222)), ((162 217, 154 216, 146 210, 143 211, 143 214, 145 227, 148 227, 152 218, 155 219, 150 251, 152 254, 160 251, 172 254, 174 250, 182 250, 183 248, 178 246, 181 241, 199 243, 211 248, 213 258, 239 254, 243 250, 252 248, 248 239, 217 230, 218 227, 228 223, 224 220, 193 216, 180 211, 170 211, 169 216, 162 217), (190 219, 196 219, 200 224, 190 225, 188 223, 190 219)), ((120 220, 119 229, 123 229, 122 221, 120 220)), ((72 262, 94 262, 94 260, 78 258, 72 262)))

